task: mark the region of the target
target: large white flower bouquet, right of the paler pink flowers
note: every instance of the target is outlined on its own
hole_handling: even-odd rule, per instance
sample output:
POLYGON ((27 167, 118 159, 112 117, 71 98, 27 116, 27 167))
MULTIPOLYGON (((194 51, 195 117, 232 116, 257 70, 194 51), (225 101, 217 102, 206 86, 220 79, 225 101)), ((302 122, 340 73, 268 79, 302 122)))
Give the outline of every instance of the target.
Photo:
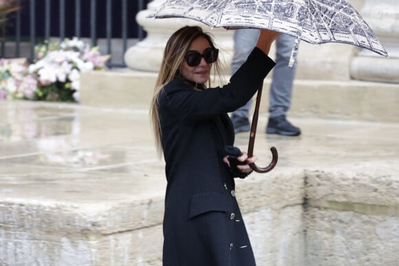
POLYGON ((35 47, 36 61, 28 67, 38 86, 34 100, 78 102, 80 72, 105 69, 109 56, 78 38, 35 47))

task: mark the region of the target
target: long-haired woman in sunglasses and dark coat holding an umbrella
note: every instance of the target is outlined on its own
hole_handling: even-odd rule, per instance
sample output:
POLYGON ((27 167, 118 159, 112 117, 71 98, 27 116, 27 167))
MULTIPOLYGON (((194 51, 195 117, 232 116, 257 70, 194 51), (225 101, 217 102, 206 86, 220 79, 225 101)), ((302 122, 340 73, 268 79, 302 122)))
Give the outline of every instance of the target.
POLYGON ((262 30, 257 47, 224 87, 209 87, 218 50, 200 27, 182 27, 166 43, 151 107, 167 179, 164 266, 255 265, 235 199, 234 177, 256 157, 233 147, 227 113, 244 105, 274 67, 267 56, 277 32, 262 30), (238 156, 236 163, 228 161, 238 156), (231 166, 231 167, 230 167, 231 166))

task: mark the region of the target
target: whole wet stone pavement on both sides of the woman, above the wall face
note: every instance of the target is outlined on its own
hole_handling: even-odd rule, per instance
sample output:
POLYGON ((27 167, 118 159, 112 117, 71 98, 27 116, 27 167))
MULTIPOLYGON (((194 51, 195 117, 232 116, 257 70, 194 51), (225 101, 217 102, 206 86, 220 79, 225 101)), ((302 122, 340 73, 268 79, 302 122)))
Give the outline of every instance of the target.
MULTIPOLYGON (((299 137, 266 135, 259 118, 255 155, 274 175, 288 170, 399 166, 399 124, 290 118, 299 137)), ((248 133, 236 144, 246 150, 248 133)), ((163 162, 155 153, 147 109, 0 102, 0 195, 7 201, 80 204, 163 197, 163 162)), ((255 173, 254 175, 260 175, 255 173)))

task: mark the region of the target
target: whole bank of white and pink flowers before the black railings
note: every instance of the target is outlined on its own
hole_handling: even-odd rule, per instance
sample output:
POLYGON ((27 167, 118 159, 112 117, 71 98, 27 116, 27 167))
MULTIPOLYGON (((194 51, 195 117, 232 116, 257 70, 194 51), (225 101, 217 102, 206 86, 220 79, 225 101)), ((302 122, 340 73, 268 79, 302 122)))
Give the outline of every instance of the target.
POLYGON ((61 43, 36 45, 36 58, 29 65, 0 60, 0 99, 24 98, 78 102, 80 72, 103 70, 109 56, 78 38, 61 43))

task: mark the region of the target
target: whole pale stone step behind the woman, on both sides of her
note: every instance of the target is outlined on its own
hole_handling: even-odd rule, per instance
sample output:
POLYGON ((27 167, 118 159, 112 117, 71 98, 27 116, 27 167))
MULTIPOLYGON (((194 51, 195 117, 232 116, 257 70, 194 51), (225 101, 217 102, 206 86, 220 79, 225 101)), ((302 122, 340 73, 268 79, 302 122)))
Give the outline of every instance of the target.
MULTIPOLYGON (((81 103, 110 108, 149 107, 156 76, 131 69, 83 73, 81 103)), ((260 113, 268 112, 270 80, 266 78, 263 84, 260 113)), ((290 115, 399 122, 399 84, 296 79, 290 115)))

